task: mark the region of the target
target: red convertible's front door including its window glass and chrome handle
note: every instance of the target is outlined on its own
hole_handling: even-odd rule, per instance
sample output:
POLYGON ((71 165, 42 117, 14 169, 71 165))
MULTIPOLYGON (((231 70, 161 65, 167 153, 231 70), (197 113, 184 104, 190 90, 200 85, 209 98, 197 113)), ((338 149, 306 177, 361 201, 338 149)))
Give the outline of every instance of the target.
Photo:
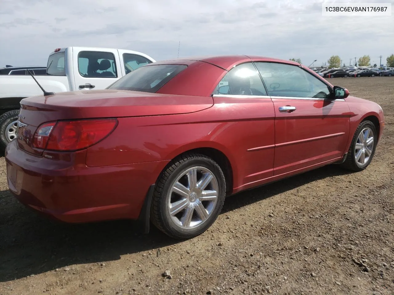
POLYGON ((340 159, 349 134, 349 107, 331 99, 323 79, 301 66, 256 62, 275 109, 274 175, 340 159))

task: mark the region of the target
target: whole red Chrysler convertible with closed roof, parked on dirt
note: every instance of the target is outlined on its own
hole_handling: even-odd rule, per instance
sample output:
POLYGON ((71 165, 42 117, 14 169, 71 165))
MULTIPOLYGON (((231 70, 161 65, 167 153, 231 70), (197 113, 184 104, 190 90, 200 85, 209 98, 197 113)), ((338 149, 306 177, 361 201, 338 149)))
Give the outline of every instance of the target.
POLYGON ((26 98, 18 126, 6 165, 21 203, 66 222, 152 221, 185 239, 228 195, 331 163, 365 169, 384 117, 299 63, 239 55, 26 98))

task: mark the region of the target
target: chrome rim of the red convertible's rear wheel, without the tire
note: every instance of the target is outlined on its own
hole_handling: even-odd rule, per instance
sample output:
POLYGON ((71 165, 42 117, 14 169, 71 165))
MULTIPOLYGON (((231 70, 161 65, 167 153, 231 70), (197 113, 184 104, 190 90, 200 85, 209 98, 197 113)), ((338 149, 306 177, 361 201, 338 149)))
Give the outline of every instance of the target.
POLYGON ((182 172, 172 184, 167 209, 176 225, 191 229, 208 219, 217 197, 215 175, 207 168, 192 167, 182 172))

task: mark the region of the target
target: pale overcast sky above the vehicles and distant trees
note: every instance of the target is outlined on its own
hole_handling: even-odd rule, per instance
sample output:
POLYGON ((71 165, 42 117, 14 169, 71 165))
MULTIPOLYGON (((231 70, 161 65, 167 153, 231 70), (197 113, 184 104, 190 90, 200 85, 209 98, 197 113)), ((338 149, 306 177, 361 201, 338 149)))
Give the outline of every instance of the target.
MULTIPOLYGON (((0 67, 46 65, 55 48, 92 46, 156 60, 251 54, 320 66, 394 53, 394 15, 323 17, 322 0, 0 0, 0 67)), ((335 2, 335 1, 325 1, 335 2)), ((349 1, 336 1, 345 3, 349 1)), ((394 0, 351 1, 386 2, 394 0)), ((394 9, 394 5, 393 5, 394 9)))

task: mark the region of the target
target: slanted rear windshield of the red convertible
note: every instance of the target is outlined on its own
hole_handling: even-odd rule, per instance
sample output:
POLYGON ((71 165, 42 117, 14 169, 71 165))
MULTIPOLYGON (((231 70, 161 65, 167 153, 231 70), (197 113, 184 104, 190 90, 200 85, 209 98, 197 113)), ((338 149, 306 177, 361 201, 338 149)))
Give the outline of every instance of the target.
POLYGON ((120 78, 107 89, 156 92, 186 67, 186 65, 141 66, 120 78))

